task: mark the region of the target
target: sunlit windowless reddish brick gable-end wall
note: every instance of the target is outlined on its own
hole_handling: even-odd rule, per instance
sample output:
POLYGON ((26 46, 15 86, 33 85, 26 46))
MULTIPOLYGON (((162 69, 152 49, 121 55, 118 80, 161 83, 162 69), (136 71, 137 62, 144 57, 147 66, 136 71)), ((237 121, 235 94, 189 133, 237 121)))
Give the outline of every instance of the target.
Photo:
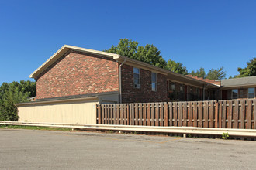
POLYGON ((118 63, 69 51, 37 77, 37 99, 119 90, 118 63))

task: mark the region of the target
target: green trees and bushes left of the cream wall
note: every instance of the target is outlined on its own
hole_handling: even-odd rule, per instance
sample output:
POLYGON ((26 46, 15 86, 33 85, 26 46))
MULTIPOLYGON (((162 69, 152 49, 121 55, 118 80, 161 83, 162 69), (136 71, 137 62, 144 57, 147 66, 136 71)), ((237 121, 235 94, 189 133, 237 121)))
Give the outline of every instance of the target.
POLYGON ((36 82, 20 81, 2 83, 0 87, 0 120, 18 121, 15 104, 28 100, 36 94, 36 82))

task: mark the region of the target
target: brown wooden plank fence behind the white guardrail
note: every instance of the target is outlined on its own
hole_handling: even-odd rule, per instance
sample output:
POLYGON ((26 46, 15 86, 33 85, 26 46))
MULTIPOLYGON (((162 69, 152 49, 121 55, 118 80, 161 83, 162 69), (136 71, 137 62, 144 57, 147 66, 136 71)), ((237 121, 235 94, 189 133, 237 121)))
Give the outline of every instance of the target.
POLYGON ((256 99, 99 104, 97 124, 256 129, 256 99))

